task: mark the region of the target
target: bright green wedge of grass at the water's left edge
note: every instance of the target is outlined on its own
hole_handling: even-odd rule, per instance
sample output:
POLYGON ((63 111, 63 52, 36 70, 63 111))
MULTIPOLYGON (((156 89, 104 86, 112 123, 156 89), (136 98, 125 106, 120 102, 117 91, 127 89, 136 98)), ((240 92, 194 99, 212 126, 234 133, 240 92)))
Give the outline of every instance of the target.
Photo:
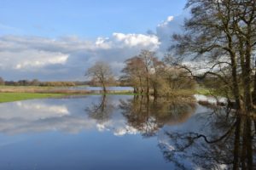
POLYGON ((44 99, 67 96, 67 94, 0 93, 0 103, 25 99, 44 99))

